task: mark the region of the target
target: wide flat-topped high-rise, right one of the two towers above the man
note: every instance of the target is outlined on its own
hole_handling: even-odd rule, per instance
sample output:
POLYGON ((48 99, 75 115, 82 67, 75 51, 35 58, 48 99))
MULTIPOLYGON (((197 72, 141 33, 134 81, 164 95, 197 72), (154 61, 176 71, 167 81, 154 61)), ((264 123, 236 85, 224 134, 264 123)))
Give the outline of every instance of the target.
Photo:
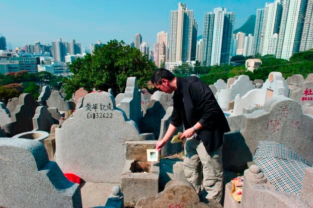
POLYGON ((204 14, 201 65, 230 64, 233 47, 235 12, 215 8, 204 14))

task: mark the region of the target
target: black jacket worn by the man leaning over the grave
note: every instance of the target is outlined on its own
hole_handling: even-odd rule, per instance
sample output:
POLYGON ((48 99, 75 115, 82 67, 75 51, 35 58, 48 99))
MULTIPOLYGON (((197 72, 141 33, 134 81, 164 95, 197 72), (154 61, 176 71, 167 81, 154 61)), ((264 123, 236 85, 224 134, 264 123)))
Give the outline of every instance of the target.
POLYGON ((170 123, 189 129, 199 122, 198 138, 208 153, 223 144, 224 133, 231 131, 226 117, 208 85, 196 76, 177 77, 174 110, 170 123))

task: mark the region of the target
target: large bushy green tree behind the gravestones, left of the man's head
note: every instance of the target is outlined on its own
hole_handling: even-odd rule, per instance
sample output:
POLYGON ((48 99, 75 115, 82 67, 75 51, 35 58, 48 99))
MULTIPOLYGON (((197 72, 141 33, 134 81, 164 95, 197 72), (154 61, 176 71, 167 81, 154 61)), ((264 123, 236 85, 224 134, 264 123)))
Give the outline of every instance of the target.
POLYGON ((123 41, 111 40, 97 47, 92 56, 87 54, 70 64, 69 69, 74 75, 63 79, 67 98, 79 87, 89 91, 92 88, 122 91, 126 87, 127 77, 130 76, 136 76, 138 85, 146 87, 156 69, 155 64, 138 49, 123 45, 123 41))

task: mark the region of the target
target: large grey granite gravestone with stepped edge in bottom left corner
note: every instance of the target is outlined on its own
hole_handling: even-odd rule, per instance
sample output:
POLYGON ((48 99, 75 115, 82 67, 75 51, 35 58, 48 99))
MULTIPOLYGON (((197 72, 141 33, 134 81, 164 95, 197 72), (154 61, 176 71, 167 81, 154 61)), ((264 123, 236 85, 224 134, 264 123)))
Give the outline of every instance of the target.
POLYGON ((79 185, 70 182, 44 145, 0 138, 0 206, 81 208, 79 185))

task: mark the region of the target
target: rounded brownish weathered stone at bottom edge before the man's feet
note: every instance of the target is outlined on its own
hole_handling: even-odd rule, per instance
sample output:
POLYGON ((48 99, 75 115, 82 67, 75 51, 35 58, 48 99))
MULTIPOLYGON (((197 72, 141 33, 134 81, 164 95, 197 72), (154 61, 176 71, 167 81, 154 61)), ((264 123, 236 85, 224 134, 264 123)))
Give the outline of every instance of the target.
POLYGON ((209 204, 200 202, 198 194, 192 185, 187 181, 172 180, 165 186, 164 191, 156 196, 143 198, 135 208, 171 208, 171 207, 186 207, 186 208, 222 208, 215 200, 209 204))

